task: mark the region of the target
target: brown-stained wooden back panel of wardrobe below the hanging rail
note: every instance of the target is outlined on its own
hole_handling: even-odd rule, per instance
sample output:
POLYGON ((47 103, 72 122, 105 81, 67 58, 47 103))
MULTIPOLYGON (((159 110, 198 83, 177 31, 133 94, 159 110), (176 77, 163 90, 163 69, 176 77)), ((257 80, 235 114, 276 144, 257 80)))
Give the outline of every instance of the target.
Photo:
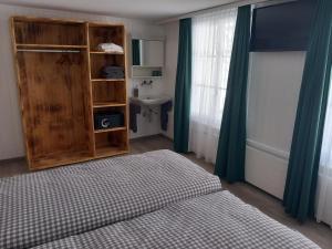
POLYGON ((90 127, 81 85, 87 81, 84 56, 28 52, 19 53, 18 59, 33 157, 87 151, 90 127))

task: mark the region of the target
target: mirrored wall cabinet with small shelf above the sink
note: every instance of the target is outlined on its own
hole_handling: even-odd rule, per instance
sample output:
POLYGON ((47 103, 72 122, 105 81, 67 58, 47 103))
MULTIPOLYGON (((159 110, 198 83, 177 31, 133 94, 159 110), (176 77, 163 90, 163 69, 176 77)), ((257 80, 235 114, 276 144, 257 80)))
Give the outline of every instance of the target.
POLYGON ((132 39, 132 76, 162 77, 164 41, 132 39))

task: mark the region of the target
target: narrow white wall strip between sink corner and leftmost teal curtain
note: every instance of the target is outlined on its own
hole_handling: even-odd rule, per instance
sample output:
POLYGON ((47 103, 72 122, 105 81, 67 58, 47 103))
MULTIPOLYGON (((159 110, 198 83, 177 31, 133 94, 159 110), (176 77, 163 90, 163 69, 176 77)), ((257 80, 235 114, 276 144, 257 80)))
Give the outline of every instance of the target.
MULTIPOLYGON (((170 95, 174 100, 175 94, 175 81, 176 81, 176 68, 177 68, 177 52, 178 52, 178 29, 179 22, 170 22, 164 25, 166 35, 165 46, 165 79, 163 92, 170 95)), ((173 108, 174 110, 174 108, 173 108)), ((174 112, 168 114, 168 128, 167 132, 163 132, 165 136, 169 138, 174 137, 174 112)))

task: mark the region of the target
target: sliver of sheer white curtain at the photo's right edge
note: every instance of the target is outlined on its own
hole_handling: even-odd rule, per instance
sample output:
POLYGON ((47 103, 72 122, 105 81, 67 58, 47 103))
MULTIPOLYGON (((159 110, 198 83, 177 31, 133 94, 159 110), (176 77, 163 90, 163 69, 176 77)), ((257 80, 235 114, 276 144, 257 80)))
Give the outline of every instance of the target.
POLYGON ((332 228, 332 79, 329 95, 317 189, 315 217, 318 221, 324 221, 332 228))

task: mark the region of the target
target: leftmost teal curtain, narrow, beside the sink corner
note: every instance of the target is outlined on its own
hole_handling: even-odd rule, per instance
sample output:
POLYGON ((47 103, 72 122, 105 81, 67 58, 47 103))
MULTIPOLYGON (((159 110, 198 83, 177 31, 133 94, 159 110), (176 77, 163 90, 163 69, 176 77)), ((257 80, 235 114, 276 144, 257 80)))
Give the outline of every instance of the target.
POLYGON ((174 151, 188 152, 191 92, 191 19, 179 21, 178 58, 174 100, 174 151))

